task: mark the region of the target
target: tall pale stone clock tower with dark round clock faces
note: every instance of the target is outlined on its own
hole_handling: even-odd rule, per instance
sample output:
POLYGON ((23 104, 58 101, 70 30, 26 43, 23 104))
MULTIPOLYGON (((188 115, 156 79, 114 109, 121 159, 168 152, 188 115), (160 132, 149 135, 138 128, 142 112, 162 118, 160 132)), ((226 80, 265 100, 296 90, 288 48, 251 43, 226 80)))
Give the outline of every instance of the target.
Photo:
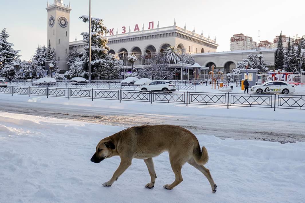
POLYGON ((70 3, 65 5, 63 0, 47 3, 48 12, 48 41, 55 49, 57 66, 61 72, 68 70, 67 56, 69 54, 70 36, 70 3))

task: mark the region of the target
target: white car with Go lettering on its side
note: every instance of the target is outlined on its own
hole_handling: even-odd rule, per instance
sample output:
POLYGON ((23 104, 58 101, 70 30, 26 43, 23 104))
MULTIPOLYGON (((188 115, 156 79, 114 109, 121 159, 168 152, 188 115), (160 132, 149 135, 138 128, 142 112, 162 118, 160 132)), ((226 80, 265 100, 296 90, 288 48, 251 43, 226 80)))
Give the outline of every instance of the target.
POLYGON ((250 92, 262 94, 262 93, 282 93, 288 94, 295 92, 294 85, 280 81, 270 81, 262 85, 254 85, 251 87, 250 92))

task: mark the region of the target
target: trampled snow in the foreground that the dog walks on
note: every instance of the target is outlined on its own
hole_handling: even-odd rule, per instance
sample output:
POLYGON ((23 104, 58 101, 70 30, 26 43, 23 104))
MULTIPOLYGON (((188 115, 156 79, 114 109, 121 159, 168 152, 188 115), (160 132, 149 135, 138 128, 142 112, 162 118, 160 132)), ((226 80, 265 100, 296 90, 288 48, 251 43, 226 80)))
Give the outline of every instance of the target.
POLYGON ((210 156, 206 167, 217 184, 212 194, 202 173, 185 164, 174 180, 165 152, 154 158, 156 184, 142 160, 112 187, 102 187, 119 157, 90 162, 100 139, 124 129, 79 121, 0 112, 0 202, 293 202, 305 199, 305 143, 222 140, 197 135, 210 156))

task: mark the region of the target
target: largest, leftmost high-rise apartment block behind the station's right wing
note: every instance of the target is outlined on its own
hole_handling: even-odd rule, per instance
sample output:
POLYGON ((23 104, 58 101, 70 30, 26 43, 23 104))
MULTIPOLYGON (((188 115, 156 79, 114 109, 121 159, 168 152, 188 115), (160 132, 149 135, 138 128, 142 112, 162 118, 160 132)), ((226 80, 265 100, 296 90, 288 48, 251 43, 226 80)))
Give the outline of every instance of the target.
POLYGON ((235 34, 230 40, 230 50, 251 50, 257 47, 257 43, 253 41, 252 37, 246 36, 243 33, 235 34))

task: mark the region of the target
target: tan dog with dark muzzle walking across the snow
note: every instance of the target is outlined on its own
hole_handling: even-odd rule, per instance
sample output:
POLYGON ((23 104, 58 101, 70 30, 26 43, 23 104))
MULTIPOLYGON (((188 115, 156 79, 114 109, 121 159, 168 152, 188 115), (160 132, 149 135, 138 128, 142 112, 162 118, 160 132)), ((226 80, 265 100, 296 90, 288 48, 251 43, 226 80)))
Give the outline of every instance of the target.
POLYGON ((156 180, 152 157, 165 151, 169 153, 170 165, 175 174, 174 182, 164 185, 165 189, 171 190, 182 182, 181 168, 187 162, 203 173, 210 182, 212 192, 216 192, 217 185, 210 171, 203 166, 209 159, 206 148, 200 149, 196 136, 179 126, 143 125, 127 128, 102 139, 95 148, 91 162, 100 163, 104 159, 120 156, 119 167, 112 178, 103 184, 105 187, 110 187, 131 165, 133 158, 143 159, 151 177, 150 183, 145 187, 151 189, 156 180))

